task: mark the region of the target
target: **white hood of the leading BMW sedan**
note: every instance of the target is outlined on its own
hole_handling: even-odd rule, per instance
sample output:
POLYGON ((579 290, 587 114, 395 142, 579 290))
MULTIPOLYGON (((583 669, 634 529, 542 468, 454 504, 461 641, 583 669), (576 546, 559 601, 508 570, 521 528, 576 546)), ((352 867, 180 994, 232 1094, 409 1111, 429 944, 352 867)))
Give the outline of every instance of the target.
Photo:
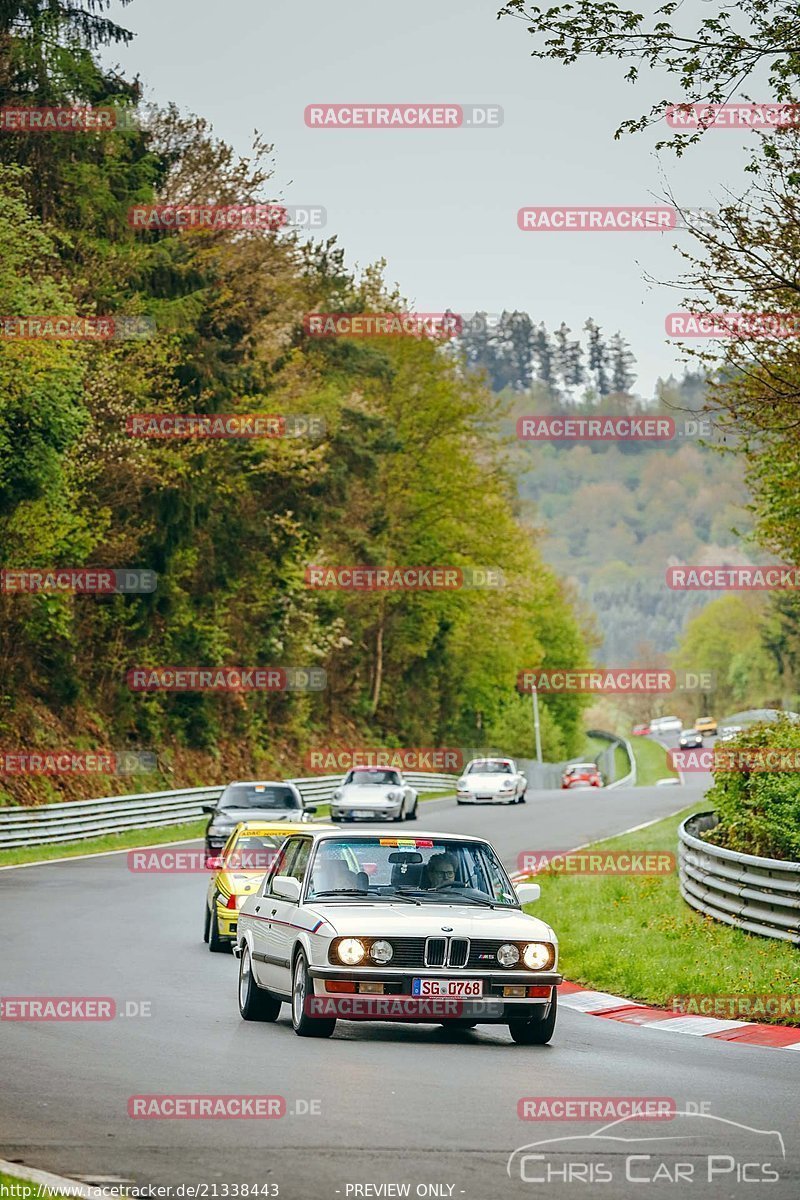
POLYGON ((311 901, 307 910, 321 917, 332 928, 335 936, 437 937, 447 932, 450 937, 555 941, 549 925, 518 908, 503 911, 479 908, 477 905, 451 906, 425 901, 417 908, 410 904, 377 900, 365 904, 311 901))

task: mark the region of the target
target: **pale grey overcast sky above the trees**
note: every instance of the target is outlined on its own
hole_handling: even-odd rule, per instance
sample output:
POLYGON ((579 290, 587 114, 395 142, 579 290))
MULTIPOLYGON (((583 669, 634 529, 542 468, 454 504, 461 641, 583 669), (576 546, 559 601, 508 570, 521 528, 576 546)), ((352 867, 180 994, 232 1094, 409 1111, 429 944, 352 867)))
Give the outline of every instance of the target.
MULTIPOLYGON (((620 330, 637 390, 679 368, 664 316, 680 292, 673 244, 685 233, 522 233, 523 205, 678 203, 714 206, 740 190, 746 134, 711 131, 682 160, 658 134, 614 130, 674 82, 637 88, 612 61, 572 67, 530 58, 530 36, 498 22, 498 0, 133 0, 114 16, 137 37, 114 53, 148 98, 206 116, 246 152, 258 128, 275 144, 287 203, 324 205, 350 265, 378 258, 417 311, 521 308, 573 332, 587 317, 620 330), (312 130, 313 102, 495 103, 499 128, 312 130)), ((687 16, 710 14, 691 0, 687 16)), ((760 98, 760 97, 759 97, 760 98)), ((769 97, 763 97, 764 100, 769 97)), ((753 137, 754 134, 750 134, 753 137)))

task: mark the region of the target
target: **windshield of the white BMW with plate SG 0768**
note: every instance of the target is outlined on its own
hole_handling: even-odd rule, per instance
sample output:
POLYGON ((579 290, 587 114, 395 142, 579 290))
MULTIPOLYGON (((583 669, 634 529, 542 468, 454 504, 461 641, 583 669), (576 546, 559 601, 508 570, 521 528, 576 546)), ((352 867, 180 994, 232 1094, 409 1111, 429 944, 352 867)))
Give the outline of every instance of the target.
POLYGON ((337 895, 417 904, 516 906, 513 888, 487 842, 450 838, 353 838, 319 842, 308 899, 337 895))

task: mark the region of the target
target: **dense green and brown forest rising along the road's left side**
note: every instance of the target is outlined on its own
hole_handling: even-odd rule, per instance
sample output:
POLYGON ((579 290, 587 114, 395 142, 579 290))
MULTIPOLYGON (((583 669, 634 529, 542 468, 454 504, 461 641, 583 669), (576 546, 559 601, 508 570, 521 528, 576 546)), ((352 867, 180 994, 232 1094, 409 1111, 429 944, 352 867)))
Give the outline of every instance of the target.
MULTIPOLYGON (((402 308, 380 266, 355 277, 333 239, 130 227, 133 204, 275 200, 271 148, 241 158, 201 118, 143 113, 139 84, 101 65, 128 38, 107 7, 2 6, 0 104, 136 119, 0 136, 0 313, 144 317, 155 334, 0 337, 0 568, 146 568, 158 586, 0 590, 0 745, 155 750, 143 787, 297 773, 313 744, 492 744, 518 726, 518 670, 589 655, 518 510, 501 404, 429 338, 309 338, 308 312, 402 308), (130 437, 143 412, 305 414, 325 434, 130 437), (314 592, 319 563, 494 566, 506 582, 314 592), (196 665, 320 666, 327 688, 126 684, 134 666, 196 665)), ((543 702, 546 754, 576 752, 582 706, 543 702)), ((10 778, 0 802, 132 786, 10 778)))

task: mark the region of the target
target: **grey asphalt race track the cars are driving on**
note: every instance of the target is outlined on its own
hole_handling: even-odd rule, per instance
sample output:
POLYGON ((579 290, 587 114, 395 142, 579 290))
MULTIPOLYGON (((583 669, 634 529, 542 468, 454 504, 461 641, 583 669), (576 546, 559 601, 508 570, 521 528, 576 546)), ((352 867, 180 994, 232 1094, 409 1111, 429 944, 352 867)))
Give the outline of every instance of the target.
MULTIPOLYGON (((417 826, 485 834, 515 868, 521 850, 577 846, 700 800, 702 792, 697 780, 680 788, 530 792, 524 806, 503 809, 437 800, 417 826)), ((642 1182, 626 1180, 626 1170, 664 1180, 651 1182, 648 1195, 656 1196, 800 1194, 796 1054, 658 1033, 566 1008, 545 1048, 516 1046, 504 1027, 492 1026, 453 1034, 341 1021, 329 1042, 301 1039, 285 1008, 276 1025, 240 1019, 236 962, 209 954, 200 940, 204 890, 199 875, 132 874, 125 854, 0 871, 5 996, 112 996, 118 1007, 151 1006, 150 1016, 108 1022, 0 1022, 0 1157, 88 1181, 203 1183, 210 1196, 224 1195, 223 1184, 270 1183, 284 1200, 640 1196, 642 1182), (149 1093, 277 1094, 288 1114, 128 1117, 128 1097, 149 1093), (628 1145, 587 1142, 596 1124, 519 1120, 517 1103, 530 1096, 672 1097, 681 1106, 706 1105, 717 1120, 628 1123, 610 1130, 636 1139, 628 1145), (786 1157, 776 1134, 726 1122, 778 1130, 786 1157), (519 1157, 506 1174, 516 1148, 576 1136, 542 1147, 545 1160, 523 1160, 525 1180, 548 1171, 549 1183, 523 1182, 519 1157), (661 1140, 667 1136, 674 1140, 661 1140), (651 1157, 631 1163, 631 1153, 651 1157), (721 1156, 711 1168, 709 1154, 721 1156), (680 1182, 675 1164, 682 1164, 680 1182), (710 1183, 709 1169, 716 1171, 710 1183), (764 1178, 772 1169, 777 1182, 764 1178), (610 1181, 597 1180, 599 1170, 610 1181), (738 1175, 746 1181, 738 1183, 738 1175), (381 1184, 409 1184, 409 1192, 381 1184)), ((546 917, 546 894, 541 905, 546 917)))

